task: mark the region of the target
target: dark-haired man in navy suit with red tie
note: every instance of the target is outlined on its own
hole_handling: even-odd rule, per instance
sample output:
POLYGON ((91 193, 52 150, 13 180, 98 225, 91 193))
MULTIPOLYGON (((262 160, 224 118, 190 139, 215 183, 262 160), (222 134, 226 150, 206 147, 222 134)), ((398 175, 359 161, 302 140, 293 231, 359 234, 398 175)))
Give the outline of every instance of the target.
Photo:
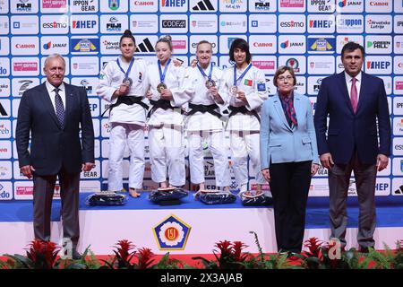
POLYGON ((382 79, 361 71, 364 48, 347 43, 341 61, 344 72, 322 81, 314 125, 322 166, 329 170, 330 238, 339 239, 341 248, 346 246, 347 191, 354 170, 359 204, 357 241, 366 252, 375 244, 375 180, 376 172, 389 161, 390 115, 382 79))

